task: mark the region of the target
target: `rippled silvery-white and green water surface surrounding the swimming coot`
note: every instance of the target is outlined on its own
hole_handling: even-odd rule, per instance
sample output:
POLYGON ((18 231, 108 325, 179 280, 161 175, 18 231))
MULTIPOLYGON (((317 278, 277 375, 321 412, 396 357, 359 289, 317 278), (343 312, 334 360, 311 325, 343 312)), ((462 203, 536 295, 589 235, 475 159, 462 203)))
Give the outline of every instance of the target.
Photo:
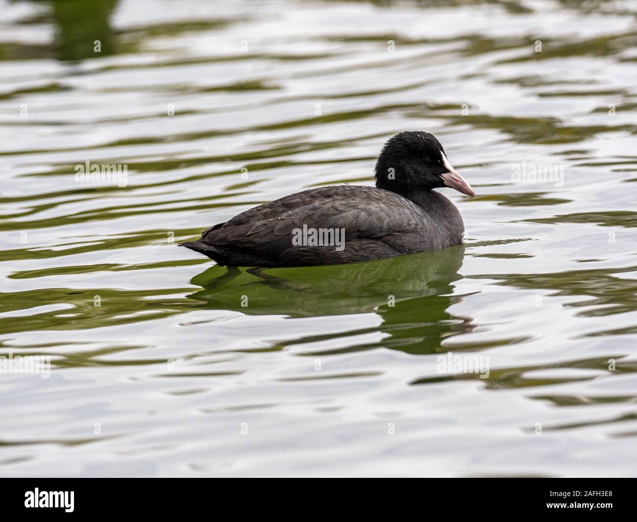
POLYGON ((637 5, 450 4, 0 0, 0 475, 637 474, 637 5), (176 247, 411 129, 464 247, 176 247))

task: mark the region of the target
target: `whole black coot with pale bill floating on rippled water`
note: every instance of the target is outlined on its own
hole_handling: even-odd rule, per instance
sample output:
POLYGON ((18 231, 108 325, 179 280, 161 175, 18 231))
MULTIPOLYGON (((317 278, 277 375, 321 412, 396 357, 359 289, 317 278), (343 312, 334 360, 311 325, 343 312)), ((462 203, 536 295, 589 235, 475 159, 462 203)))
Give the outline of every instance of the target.
POLYGON ((475 196, 433 134, 390 138, 376 161, 376 187, 337 185, 250 208, 180 243, 226 266, 338 265, 462 243, 454 204, 432 189, 475 196))

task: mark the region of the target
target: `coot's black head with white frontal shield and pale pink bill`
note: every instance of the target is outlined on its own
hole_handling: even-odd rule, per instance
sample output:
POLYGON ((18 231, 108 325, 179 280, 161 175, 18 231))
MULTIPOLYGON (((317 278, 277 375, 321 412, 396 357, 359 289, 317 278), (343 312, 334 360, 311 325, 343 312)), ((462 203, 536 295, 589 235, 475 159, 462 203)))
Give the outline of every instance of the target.
POLYGON ((471 186, 447 160, 436 136, 408 131, 387 140, 376 161, 376 187, 412 194, 445 186, 475 196, 471 186))

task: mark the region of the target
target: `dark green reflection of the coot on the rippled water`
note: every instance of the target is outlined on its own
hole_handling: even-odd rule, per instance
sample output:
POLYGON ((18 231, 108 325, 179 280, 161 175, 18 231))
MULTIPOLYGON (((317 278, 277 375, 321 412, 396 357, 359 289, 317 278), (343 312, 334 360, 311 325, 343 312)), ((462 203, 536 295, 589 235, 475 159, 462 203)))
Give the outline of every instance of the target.
MULTIPOLYGON (((202 307, 237 310, 248 315, 318 317, 376 313, 382 323, 373 331, 387 333, 378 342, 350 345, 334 353, 385 346, 413 354, 445 351, 443 338, 475 328, 468 317, 448 312, 462 300, 452 295, 454 281, 462 279, 464 246, 352 265, 303 268, 245 269, 213 266, 190 282, 203 287, 189 298, 202 307)), ((355 321, 354 321, 355 323, 355 321)), ((327 340, 364 333, 312 335, 327 340)), ((287 344, 308 342, 302 338, 287 344)))

